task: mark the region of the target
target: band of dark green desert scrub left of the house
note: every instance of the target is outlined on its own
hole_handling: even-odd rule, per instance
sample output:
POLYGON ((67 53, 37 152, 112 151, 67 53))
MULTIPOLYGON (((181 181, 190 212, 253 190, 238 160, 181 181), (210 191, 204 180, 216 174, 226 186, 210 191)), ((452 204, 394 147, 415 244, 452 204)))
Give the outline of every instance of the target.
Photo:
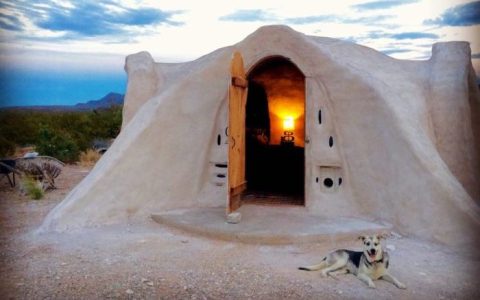
POLYGON ((93 111, 0 110, 0 157, 16 146, 35 146, 40 155, 74 162, 95 139, 112 139, 120 132, 122 106, 93 111))

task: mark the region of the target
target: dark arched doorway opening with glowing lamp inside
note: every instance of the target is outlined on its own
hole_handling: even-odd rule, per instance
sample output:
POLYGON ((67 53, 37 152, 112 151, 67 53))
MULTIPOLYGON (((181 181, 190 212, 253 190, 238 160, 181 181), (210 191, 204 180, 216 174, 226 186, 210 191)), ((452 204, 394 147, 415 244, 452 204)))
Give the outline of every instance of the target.
POLYGON ((304 205, 305 78, 282 57, 248 76, 243 202, 304 205), (287 119, 292 127, 285 129, 287 119), (292 138, 285 141, 285 134, 292 138))

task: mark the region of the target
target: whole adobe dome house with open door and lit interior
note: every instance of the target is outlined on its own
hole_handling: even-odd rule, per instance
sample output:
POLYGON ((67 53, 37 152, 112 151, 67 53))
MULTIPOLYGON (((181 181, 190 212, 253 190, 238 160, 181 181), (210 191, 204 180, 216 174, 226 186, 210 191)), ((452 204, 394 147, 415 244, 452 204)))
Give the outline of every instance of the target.
POLYGON ((353 217, 477 242, 480 96, 470 59, 466 42, 405 61, 285 26, 186 63, 130 55, 120 135, 42 229, 212 207, 225 220, 242 204, 274 202, 318 223, 353 217))

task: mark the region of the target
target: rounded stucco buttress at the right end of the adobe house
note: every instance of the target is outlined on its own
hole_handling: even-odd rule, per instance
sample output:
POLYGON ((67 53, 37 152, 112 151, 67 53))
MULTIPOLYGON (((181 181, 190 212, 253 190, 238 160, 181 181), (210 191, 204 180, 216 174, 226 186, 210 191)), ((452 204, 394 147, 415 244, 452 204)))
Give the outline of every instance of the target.
POLYGON ((472 131, 469 102, 471 61, 467 42, 433 46, 430 67, 430 113, 435 144, 451 172, 480 203, 480 163, 472 131), (461 116, 461 117, 460 117, 461 116))

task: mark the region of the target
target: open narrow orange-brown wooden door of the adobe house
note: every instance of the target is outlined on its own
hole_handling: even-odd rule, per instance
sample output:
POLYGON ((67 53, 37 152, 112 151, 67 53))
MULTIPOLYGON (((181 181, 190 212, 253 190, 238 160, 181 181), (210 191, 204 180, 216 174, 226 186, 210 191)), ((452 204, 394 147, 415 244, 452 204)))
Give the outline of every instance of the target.
POLYGON ((241 205, 245 181, 245 111, 247 79, 242 55, 236 51, 230 64, 231 81, 228 102, 228 203, 227 214, 241 205))

